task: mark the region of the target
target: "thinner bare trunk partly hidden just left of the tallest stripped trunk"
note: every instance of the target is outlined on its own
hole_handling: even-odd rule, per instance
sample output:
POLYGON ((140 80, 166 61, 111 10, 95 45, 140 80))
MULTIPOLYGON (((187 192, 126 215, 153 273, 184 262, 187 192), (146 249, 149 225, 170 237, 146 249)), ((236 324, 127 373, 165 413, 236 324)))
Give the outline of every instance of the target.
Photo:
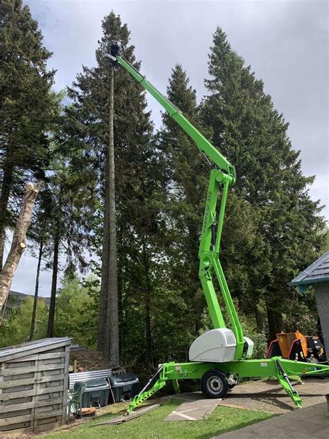
POLYGON ((105 188, 104 188, 104 217, 103 217, 103 247, 101 253, 101 292, 99 295, 99 327, 97 349, 104 349, 104 334, 106 333, 106 309, 108 307, 108 272, 110 265, 110 166, 108 149, 106 149, 105 188))

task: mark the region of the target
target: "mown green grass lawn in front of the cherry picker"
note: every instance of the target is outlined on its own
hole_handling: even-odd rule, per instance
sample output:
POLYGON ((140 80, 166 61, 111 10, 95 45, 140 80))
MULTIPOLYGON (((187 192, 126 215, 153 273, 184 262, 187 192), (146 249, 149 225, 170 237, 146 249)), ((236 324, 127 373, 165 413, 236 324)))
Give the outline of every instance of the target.
POLYGON ((227 431, 240 429, 243 426, 265 420, 272 415, 261 411, 243 410, 239 408, 218 406, 207 420, 203 421, 170 421, 164 422, 165 417, 177 406, 181 400, 169 399, 141 417, 118 425, 101 425, 90 428, 90 425, 110 420, 123 404, 108 406, 106 415, 97 417, 67 430, 60 430, 46 434, 42 437, 47 439, 60 438, 132 438, 132 439, 208 439, 212 436, 226 433, 227 431), (112 413, 111 413, 112 412, 112 413))

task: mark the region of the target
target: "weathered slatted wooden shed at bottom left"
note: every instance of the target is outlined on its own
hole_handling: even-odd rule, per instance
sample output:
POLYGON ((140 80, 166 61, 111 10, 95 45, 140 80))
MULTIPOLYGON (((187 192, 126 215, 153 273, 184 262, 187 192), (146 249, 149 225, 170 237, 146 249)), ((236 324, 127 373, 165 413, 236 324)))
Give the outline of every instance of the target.
POLYGON ((0 436, 66 422, 70 338, 0 349, 0 436))

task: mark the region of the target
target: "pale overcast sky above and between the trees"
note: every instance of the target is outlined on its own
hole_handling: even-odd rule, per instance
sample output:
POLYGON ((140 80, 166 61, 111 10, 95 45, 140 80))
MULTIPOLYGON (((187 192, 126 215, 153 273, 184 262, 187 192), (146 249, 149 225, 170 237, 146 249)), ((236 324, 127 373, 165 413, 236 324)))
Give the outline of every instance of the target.
MULTIPOLYGON (((312 199, 328 199, 328 2, 327 1, 109 1, 24 0, 53 51, 56 90, 70 85, 81 66, 95 65, 101 20, 114 10, 131 31, 142 72, 165 92, 171 68, 187 69, 198 99, 212 34, 221 26, 233 49, 264 81, 266 92, 289 121, 289 137, 301 150, 303 172, 315 175, 312 199)), ((148 97, 160 124, 160 106, 148 97)), ((329 217, 328 207, 323 210, 329 217)), ((24 256, 13 290, 33 293, 36 260, 24 256)), ((43 272, 40 295, 50 295, 50 272, 43 272)))

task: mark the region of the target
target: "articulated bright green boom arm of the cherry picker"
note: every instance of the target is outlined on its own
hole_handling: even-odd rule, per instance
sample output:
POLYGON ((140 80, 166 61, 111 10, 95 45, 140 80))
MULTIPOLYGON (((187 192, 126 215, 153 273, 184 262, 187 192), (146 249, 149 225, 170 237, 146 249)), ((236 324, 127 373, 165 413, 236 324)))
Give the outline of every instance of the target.
POLYGON ((208 140, 193 126, 180 110, 171 103, 167 97, 161 94, 147 79, 142 76, 133 65, 131 65, 123 56, 110 56, 110 58, 117 60, 133 77, 147 90, 159 103, 162 105, 169 115, 174 119, 178 125, 189 135, 201 152, 208 156, 210 160, 216 165, 210 174, 210 182, 208 187, 208 195, 205 205, 205 214, 203 217, 203 226, 201 232, 201 241, 199 247, 199 277, 205 299, 207 300, 212 324, 214 328, 225 328, 226 324, 223 320, 223 315, 219 307, 216 292, 214 290, 213 277, 216 276, 219 283, 221 294, 228 312, 230 320, 230 329, 235 333, 237 340, 237 349, 235 352, 235 360, 242 358, 242 351, 244 348, 244 334, 239 323, 239 317, 233 304, 228 285, 226 283, 221 263, 219 262, 219 247, 221 242, 221 231, 223 229, 223 217, 226 207, 226 198, 228 187, 235 183, 235 168, 230 162, 214 147, 208 140), (221 210, 219 212, 217 234, 215 233, 216 223, 216 206, 218 199, 219 187, 223 186, 223 194, 221 197, 221 210))

